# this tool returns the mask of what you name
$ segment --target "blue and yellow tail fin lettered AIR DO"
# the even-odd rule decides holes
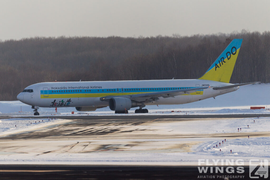
[[[229,83],[243,39],[234,39],[215,60],[204,75],[198,79]]]

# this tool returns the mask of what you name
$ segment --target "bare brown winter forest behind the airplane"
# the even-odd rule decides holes
[[[243,42],[230,83],[269,83],[270,31],[0,41],[0,100],[48,81],[197,79],[235,38]]]

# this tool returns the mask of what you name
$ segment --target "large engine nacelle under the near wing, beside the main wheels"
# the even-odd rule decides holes
[[[125,97],[114,97],[109,101],[109,107],[112,111],[130,110],[132,107],[141,106],[141,102],[133,101]]]

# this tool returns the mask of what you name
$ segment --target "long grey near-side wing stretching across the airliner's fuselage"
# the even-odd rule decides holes
[[[163,97],[163,98],[174,97],[174,96],[178,96],[182,94],[190,94],[192,92],[195,92],[196,90],[207,89],[207,88],[210,88],[210,87],[194,87],[194,88],[188,88],[188,89],[177,89],[177,90],[131,94],[131,95],[123,95],[123,96],[105,96],[105,97],[101,97],[100,100],[109,101],[111,98],[114,98],[114,97],[126,97],[132,100],[147,103],[147,102],[157,101],[159,97]]]

